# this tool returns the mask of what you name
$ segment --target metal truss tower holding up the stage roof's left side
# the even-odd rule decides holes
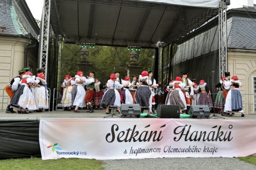
[[[47,79],[48,62],[48,42],[50,31],[50,8],[51,0],[44,0],[43,13],[41,18],[40,41],[39,41],[39,67],[45,70],[45,80]]]

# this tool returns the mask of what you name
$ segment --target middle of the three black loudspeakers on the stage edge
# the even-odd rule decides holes
[[[157,117],[159,118],[180,118],[179,105],[164,105],[160,104],[156,109]]]

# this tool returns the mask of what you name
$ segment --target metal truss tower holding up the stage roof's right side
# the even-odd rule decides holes
[[[227,71],[227,6],[220,0],[219,7],[219,69],[222,77]]]

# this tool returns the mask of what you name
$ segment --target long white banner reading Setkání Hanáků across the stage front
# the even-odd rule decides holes
[[[256,120],[42,118],[42,159],[239,157],[256,153]]]

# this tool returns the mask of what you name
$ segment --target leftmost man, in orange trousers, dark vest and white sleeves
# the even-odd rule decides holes
[[[17,88],[20,86],[20,80],[22,79],[23,74],[25,74],[26,71],[25,70],[20,70],[19,71],[19,76],[14,77],[13,79],[11,79],[10,83],[8,83],[5,86],[5,91],[8,94],[8,96],[10,97],[10,99],[13,97],[14,91],[17,90]],[[10,108],[10,104],[7,106],[6,108],[6,113],[16,113],[16,111],[13,111],[13,108]]]

